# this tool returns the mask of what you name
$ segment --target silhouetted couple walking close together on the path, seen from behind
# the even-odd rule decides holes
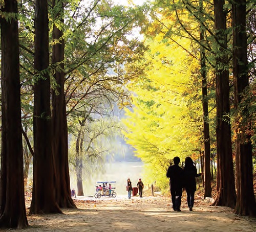
[[[193,211],[194,196],[196,192],[196,179],[202,175],[197,173],[196,165],[190,157],[185,158],[185,167],[179,166],[180,158],[174,157],[174,165],[169,166],[166,176],[170,178],[170,194],[172,195],[173,209],[180,212],[182,189],[186,190],[189,211]]]

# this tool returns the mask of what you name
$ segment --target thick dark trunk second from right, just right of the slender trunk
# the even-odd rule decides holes
[[[214,0],[217,46],[216,104],[217,104],[217,155],[219,184],[214,205],[234,207],[236,190],[232,163],[231,130],[229,119],[229,73],[227,57],[226,13],[224,0]]]

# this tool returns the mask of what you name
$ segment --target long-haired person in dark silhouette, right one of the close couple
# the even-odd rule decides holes
[[[197,190],[196,178],[201,176],[202,173],[197,173],[197,168],[195,163],[190,157],[185,158],[185,167],[183,169],[184,175],[184,188],[187,194],[187,205],[189,211],[193,211],[195,192]]]

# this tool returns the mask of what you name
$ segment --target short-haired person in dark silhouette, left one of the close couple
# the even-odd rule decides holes
[[[183,169],[179,167],[180,158],[174,157],[174,165],[169,166],[166,176],[170,178],[170,194],[172,195],[173,209],[181,211],[181,196],[183,187]]]

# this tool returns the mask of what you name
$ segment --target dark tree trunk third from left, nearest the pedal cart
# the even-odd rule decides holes
[[[63,23],[63,1],[54,0],[53,7],[56,10],[54,20]],[[53,26],[53,51],[52,64],[56,65],[54,78],[56,88],[52,90],[52,121],[53,121],[53,157],[55,164],[56,201],[60,207],[74,208],[75,203],[70,194],[70,175],[68,157],[68,125],[65,101],[65,73],[64,73],[64,49],[65,40],[63,32],[54,24]]]

